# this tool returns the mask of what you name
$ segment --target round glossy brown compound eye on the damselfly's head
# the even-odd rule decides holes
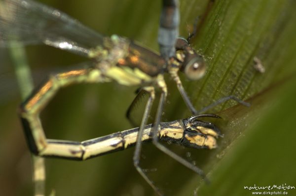
[[[190,80],[200,79],[205,74],[205,72],[206,65],[201,56],[191,59],[184,68],[184,73]]]

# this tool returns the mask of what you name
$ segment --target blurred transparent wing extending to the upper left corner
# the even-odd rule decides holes
[[[103,36],[67,14],[33,0],[0,0],[0,47],[44,43],[87,56]]]

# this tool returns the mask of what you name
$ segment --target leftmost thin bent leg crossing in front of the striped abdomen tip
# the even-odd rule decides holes
[[[149,93],[149,98],[145,107],[145,112],[143,115],[143,119],[141,122],[141,126],[137,135],[137,142],[136,142],[136,146],[135,146],[135,154],[133,157],[133,161],[134,161],[134,165],[136,167],[136,169],[138,170],[138,172],[142,175],[142,177],[147,181],[147,183],[153,188],[153,190],[158,194],[161,195],[161,193],[159,192],[158,188],[153,184],[153,182],[148,178],[148,176],[146,175],[146,173],[144,172],[144,170],[141,168],[140,166],[140,155],[141,155],[141,148],[142,148],[142,136],[143,136],[143,131],[144,131],[144,127],[147,124],[148,121],[148,116],[151,110],[151,106],[152,103],[154,101],[155,98],[155,92],[154,92],[154,87],[145,87],[143,88],[145,91],[147,91]]]

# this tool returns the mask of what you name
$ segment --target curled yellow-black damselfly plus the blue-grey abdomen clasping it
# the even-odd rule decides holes
[[[159,135],[167,135],[167,137],[163,138],[172,141],[174,141],[174,139],[181,139],[182,142],[186,141],[185,143],[187,143],[188,146],[191,146],[191,142],[197,142],[197,147],[209,148],[209,146],[212,146],[212,148],[214,148],[216,146],[215,136],[219,134],[216,128],[207,127],[208,124],[201,124],[198,128],[193,126],[191,129],[191,125],[186,127],[184,125],[185,123],[180,123],[181,121],[178,121],[181,126],[179,130],[183,132],[177,134],[176,130],[174,130],[176,128],[173,127],[170,128],[173,131],[168,131],[167,134],[161,133],[161,131],[167,131],[163,126],[164,124],[160,123],[163,106],[167,97],[167,87],[163,79],[163,74],[168,72],[177,83],[178,90],[184,98],[189,110],[194,115],[225,100],[236,98],[232,96],[222,98],[215,104],[201,111],[197,111],[193,107],[182,86],[178,71],[184,71],[189,79],[199,79],[205,72],[205,65],[203,58],[194,52],[189,46],[188,41],[178,38],[179,9],[176,0],[163,0],[158,33],[161,55],[144,48],[138,43],[117,35],[103,37],[81,25],[61,11],[35,1],[1,0],[0,6],[1,46],[7,46],[9,44],[11,46],[13,45],[13,41],[19,41],[25,44],[44,43],[91,59],[90,62],[81,65],[81,67],[75,67],[73,70],[62,73],[51,74],[49,79],[40,85],[40,87],[21,105],[20,116],[30,150],[33,153],[40,156],[85,160],[102,154],[87,150],[87,147],[97,149],[97,146],[104,144],[101,143],[101,141],[107,142],[106,148],[103,149],[105,152],[103,153],[118,150],[119,147],[124,149],[128,146],[127,143],[129,142],[131,144],[136,143],[134,164],[150,186],[161,194],[139,165],[141,144],[143,140],[146,140],[144,139],[145,136],[148,135],[148,139],[152,140],[155,146],[161,151],[205,177],[201,169],[179,157],[158,141]],[[114,143],[114,140],[113,143],[110,143],[110,141],[103,139],[93,139],[81,143],[46,139],[39,119],[39,113],[60,88],[75,83],[105,83],[111,81],[116,81],[125,86],[140,86],[141,91],[139,95],[141,95],[141,92],[146,92],[149,95],[141,126],[139,130],[133,132],[133,135],[136,132],[137,139],[135,139],[136,137],[134,135],[131,141],[122,136],[125,133],[120,133],[120,136],[117,135],[119,138],[116,138],[116,134],[110,136],[113,137],[117,143]],[[155,98],[155,88],[160,90],[161,95],[155,116],[155,123],[153,127],[150,126],[151,128],[148,129],[146,124],[152,102]],[[136,100],[137,99],[138,97],[136,97]],[[240,102],[245,104],[242,101]],[[132,108],[133,105],[130,106],[127,116],[129,116],[130,109]],[[201,122],[196,121],[196,117],[191,118],[192,123]],[[217,116],[208,115],[208,117]],[[171,125],[171,123],[168,124]],[[206,131],[202,131],[203,129],[206,129]],[[149,133],[147,133],[147,130],[149,130]],[[188,138],[184,138],[186,135],[185,131],[189,131],[189,134],[187,134],[189,135]],[[129,131],[126,132],[128,136],[131,134],[132,133]],[[172,134],[172,136],[169,136],[170,134]],[[211,138],[211,140],[209,140],[209,138]],[[182,142],[177,141],[177,143],[180,144],[182,144]],[[90,153],[89,157],[87,153]]]

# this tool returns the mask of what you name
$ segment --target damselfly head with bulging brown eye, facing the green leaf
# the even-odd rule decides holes
[[[184,38],[178,38],[176,42],[177,59],[181,62],[180,69],[190,80],[200,79],[206,71],[206,65],[202,56],[189,46]]]

